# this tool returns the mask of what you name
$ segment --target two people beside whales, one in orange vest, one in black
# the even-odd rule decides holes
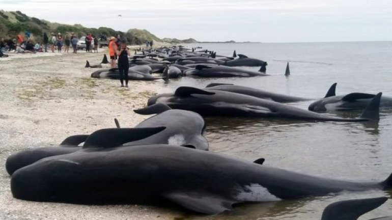
[[[129,70],[129,61],[128,56],[131,55],[129,48],[127,47],[127,42],[124,38],[121,38],[118,35],[117,38],[110,37],[109,38],[109,56],[110,56],[110,67],[116,67],[116,60],[118,59],[118,68],[120,73],[120,82],[121,87],[124,87],[124,79],[125,79],[125,87],[128,87],[128,70]]]

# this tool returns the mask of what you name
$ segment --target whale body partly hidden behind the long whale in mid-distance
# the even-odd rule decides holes
[[[226,84],[226,83],[210,83],[206,86],[206,90],[230,91],[234,93],[257,97],[260,99],[272,100],[278,103],[291,103],[291,102],[312,100],[312,99],[306,99],[301,97],[287,96],[287,95],[278,94],[262,89],[251,88],[247,86]]]

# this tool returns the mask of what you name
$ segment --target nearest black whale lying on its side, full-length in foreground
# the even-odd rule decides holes
[[[233,204],[385,190],[380,182],[310,176],[174,145],[92,148],[51,156],[17,170],[17,199],[78,204],[174,204],[217,214]]]

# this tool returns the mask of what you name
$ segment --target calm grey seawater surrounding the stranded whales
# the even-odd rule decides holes
[[[179,86],[203,88],[212,82],[234,83],[304,98],[323,98],[337,82],[337,95],[383,92],[392,97],[392,42],[222,43],[201,46],[218,55],[233,51],[268,62],[266,77],[171,80],[162,92]],[[201,49],[197,49],[201,50]],[[287,62],[291,76],[285,77]],[[258,70],[258,68],[249,68]],[[290,105],[307,109],[312,101]],[[332,112],[357,117],[360,111]],[[273,166],[325,178],[382,181],[392,173],[392,110],[381,110],[375,123],[309,122],[266,118],[206,118],[210,151],[242,160],[265,158]],[[229,214],[186,219],[320,219],[330,203],[354,198],[390,197],[392,191],[368,191],[304,199],[237,205]],[[392,215],[388,200],[360,219]]]

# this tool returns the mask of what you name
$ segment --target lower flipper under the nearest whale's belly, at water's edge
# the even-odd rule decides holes
[[[230,211],[235,203],[203,193],[170,193],[164,197],[187,209],[205,214],[219,214],[224,211]]]

